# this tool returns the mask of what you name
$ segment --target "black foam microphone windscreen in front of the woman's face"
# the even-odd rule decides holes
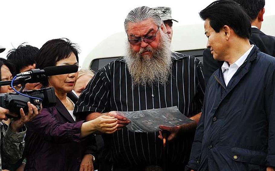
[[[61,66],[45,67],[44,71],[46,76],[61,75],[61,74],[76,73],[78,71],[78,67],[76,65],[61,65]]]

